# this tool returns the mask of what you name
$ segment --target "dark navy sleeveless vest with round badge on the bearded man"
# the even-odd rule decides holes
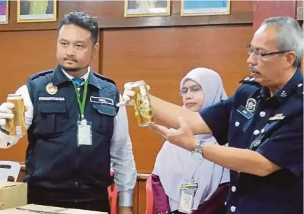
[[[79,105],[73,83],[60,67],[31,76],[27,87],[34,107],[26,151],[29,193],[44,191],[57,201],[100,197],[113,182],[110,147],[120,99],[115,83],[88,74],[84,117],[92,122],[90,146],[77,146]]]

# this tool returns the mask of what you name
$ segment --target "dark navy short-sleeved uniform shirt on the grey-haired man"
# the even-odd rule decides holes
[[[227,213],[303,213],[303,74],[274,96],[245,78],[231,98],[200,115],[220,145],[251,149],[282,169],[265,177],[231,170]]]

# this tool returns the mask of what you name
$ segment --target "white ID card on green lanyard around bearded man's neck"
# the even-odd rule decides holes
[[[75,89],[77,103],[79,105],[81,120],[77,121],[77,145],[92,145],[92,122],[86,121],[84,118],[84,108],[86,106],[86,95],[88,94],[88,80],[84,82],[84,96],[80,101],[80,94],[75,83],[72,81]]]

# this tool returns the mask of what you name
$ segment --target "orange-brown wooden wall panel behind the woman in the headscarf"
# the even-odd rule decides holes
[[[245,47],[251,33],[251,26],[106,30],[102,73],[113,78],[121,92],[124,83],[143,79],[151,85],[151,94],[180,105],[182,76],[195,67],[210,67],[231,95],[249,74]],[[133,112],[129,107],[137,171],[150,173],[162,142],[148,128],[137,126]]]

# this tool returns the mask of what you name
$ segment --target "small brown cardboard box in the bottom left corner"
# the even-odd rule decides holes
[[[27,204],[28,185],[19,182],[0,182],[0,210]]]

